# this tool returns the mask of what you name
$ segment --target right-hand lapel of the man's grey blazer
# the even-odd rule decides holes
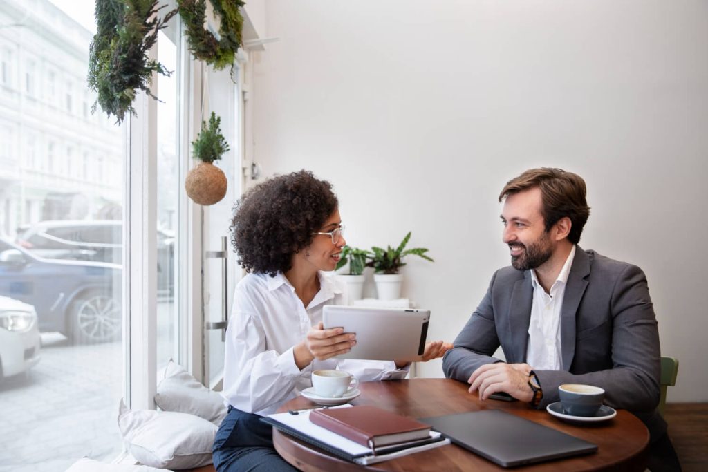
[[[586,278],[588,275],[590,275],[590,258],[580,246],[576,246],[576,255],[573,258],[561,309],[561,358],[563,361],[561,369],[566,372],[570,372],[573,356],[575,356],[576,313],[585,289],[588,287]]]

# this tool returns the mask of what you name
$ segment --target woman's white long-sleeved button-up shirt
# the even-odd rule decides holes
[[[322,320],[325,305],[346,304],[346,285],[319,273],[320,289],[305,308],[285,275],[251,273],[236,286],[226,334],[224,391],[239,410],[258,415],[275,413],[282,403],[312,386],[317,369],[341,369],[359,381],[402,379],[408,369],[393,361],[314,359],[302,371],[293,348]]]

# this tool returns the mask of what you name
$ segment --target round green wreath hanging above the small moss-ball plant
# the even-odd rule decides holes
[[[194,57],[221,70],[234,65],[236,51],[241,47],[244,17],[239,7],[246,3],[241,0],[210,0],[214,13],[221,18],[220,39],[217,40],[204,27],[206,22],[206,0],[178,0],[178,10],[187,33],[187,45]]]

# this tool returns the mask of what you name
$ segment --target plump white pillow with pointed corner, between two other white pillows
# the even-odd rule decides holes
[[[212,464],[217,427],[186,413],[131,411],[120,401],[118,429],[127,450],[140,463],[157,468],[195,468]]]

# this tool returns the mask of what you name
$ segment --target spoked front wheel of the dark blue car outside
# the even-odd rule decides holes
[[[81,294],[69,309],[70,333],[76,344],[105,343],[120,338],[121,310],[110,294]]]

